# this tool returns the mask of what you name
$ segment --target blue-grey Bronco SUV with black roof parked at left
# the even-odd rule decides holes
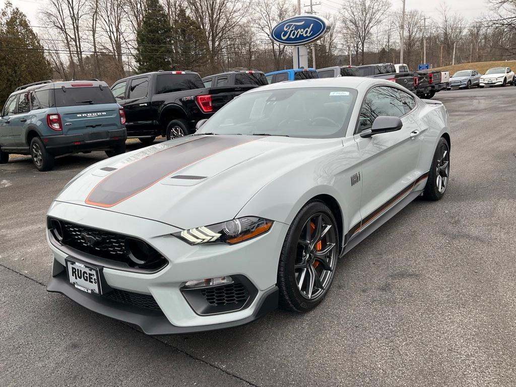
[[[0,117],[0,164],[10,153],[30,154],[40,171],[54,156],[125,152],[125,114],[105,82],[44,80],[17,88]]]

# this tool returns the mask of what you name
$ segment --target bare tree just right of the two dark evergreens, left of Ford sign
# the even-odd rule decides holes
[[[209,50],[213,69],[219,67],[219,55],[225,42],[236,38],[235,27],[244,18],[248,3],[239,0],[186,0],[193,19],[199,23]]]

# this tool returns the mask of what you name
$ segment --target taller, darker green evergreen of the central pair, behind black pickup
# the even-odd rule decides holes
[[[158,0],[147,0],[146,11],[136,31],[138,71],[170,70],[172,28]]]

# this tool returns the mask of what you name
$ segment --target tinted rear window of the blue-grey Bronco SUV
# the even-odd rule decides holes
[[[65,91],[66,90],[66,91]],[[67,87],[54,89],[55,106],[114,104],[115,97],[107,86]]]

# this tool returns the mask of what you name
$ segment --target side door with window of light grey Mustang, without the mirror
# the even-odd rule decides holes
[[[412,99],[410,106],[407,96]],[[389,86],[374,87],[364,98],[354,134],[361,153],[362,228],[407,195],[420,174],[417,160],[421,140],[417,137],[424,130],[416,117],[416,105],[411,94]],[[395,132],[360,137],[379,116],[399,117],[403,126]]]

